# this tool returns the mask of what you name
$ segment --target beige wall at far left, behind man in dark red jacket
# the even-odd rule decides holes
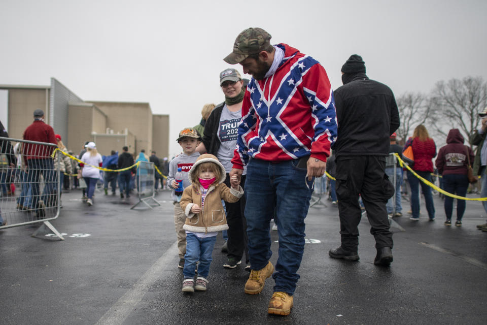
[[[33,113],[36,109],[44,111],[44,120],[49,124],[49,86],[0,86],[0,89],[9,92],[9,137],[22,139],[25,129],[34,120]]]

